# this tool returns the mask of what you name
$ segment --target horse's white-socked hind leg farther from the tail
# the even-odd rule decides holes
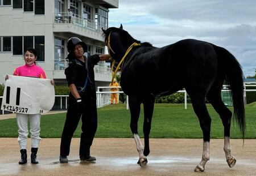
[[[194,171],[204,171],[205,164],[208,160],[210,160],[210,123],[212,119],[207,111],[207,107],[205,105],[205,97],[196,94],[189,95],[192,100],[193,109],[199,118],[200,127],[203,131],[203,154],[201,162],[196,166]]]

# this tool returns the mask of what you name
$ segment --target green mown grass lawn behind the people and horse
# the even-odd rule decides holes
[[[230,108],[233,111],[233,108]],[[208,106],[212,117],[211,138],[223,138],[221,119],[212,106]],[[246,139],[256,139],[256,104],[247,105]],[[65,122],[65,113],[42,115],[42,138],[60,138]],[[143,106],[139,118],[139,135],[143,137]],[[80,137],[81,123],[74,137]],[[0,120],[0,137],[17,137],[16,119]],[[98,109],[98,128],[96,138],[132,138],[130,131],[130,111],[126,104],[109,105]],[[241,138],[235,121],[232,121],[231,138]],[[192,105],[184,109],[183,104],[155,104],[150,138],[203,138],[199,121]]]

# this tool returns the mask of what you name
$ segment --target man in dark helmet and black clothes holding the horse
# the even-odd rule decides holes
[[[96,88],[94,81],[94,65],[99,61],[109,59],[109,54],[87,55],[87,45],[80,38],[71,37],[68,40],[69,66],[65,69],[68,81],[69,106],[63,128],[60,144],[60,162],[68,162],[67,156],[73,133],[82,119],[82,133],[80,138],[80,160],[95,161],[90,156],[90,146],[97,130]],[[85,56],[84,56],[85,55]]]

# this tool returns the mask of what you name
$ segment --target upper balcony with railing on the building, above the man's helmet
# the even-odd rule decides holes
[[[76,14],[69,16],[68,12],[53,15],[53,32],[71,32],[98,41],[104,41],[101,28],[106,29],[108,26],[97,21],[82,18],[82,16]]]

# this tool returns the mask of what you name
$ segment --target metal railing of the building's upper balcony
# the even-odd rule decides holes
[[[70,16],[68,15],[68,12],[55,13],[53,17],[54,23],[69,23],[92,31],[101,32],[101,28],[108,28],[108,26],[105,24],[83,18],[82,16],[76,14]]]

